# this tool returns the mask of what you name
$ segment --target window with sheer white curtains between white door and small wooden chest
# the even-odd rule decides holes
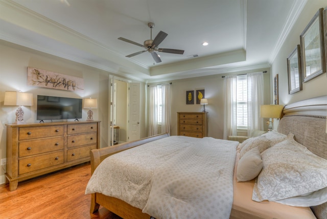
[[[161,104],[160,104],[161,99]],[[160,115],[161,112],[161,115]],[[171,85],[150,86],[149,136],[171,134]],[[161,121],[160,121],[161,120]]]

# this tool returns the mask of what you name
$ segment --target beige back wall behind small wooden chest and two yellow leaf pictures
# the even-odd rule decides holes
[[[253,72],[263,72],[265,83],[265,104],[270,104],[270,69],[256,69],[252,71],[234,72],[223,75],[239,75]],[[177,112],[202,112],[200,104],[186,104],[186,91],[204,89],[204,96],[208,99],[205,111],[209,113],[208,136],[213,138],[223,138],[224,127],[224,91],[222,75],[203,76],[183,80],[168,81],[172,82],[172,109],[171,109],[171,135],[177,135]],[[266,128],[267,129],[267,128]]]

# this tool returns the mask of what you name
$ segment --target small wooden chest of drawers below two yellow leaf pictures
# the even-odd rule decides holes
[[[177,113],[179,136],[203,138],[208,136],[208,112]]]

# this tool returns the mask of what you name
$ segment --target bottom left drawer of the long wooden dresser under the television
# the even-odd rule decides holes
[[[19,174],[40,170],[46,167],[55,166],[64,162],[63,151],[52,152],[30,158],[19,160]]]

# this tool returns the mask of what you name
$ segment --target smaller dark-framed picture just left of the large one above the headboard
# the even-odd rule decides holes
[[[287,58],[288,92],[302,91],[300,45],[297,45]]]

